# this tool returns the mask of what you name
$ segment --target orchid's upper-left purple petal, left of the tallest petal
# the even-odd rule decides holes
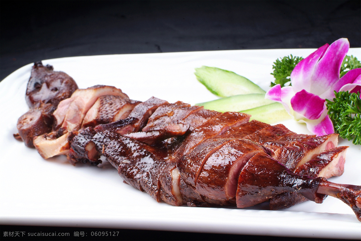
[[[315,52],[301,60],[300,63],[298,63],[292,70],[291,85],[296,92],[301,90],[311,90],[314,68],[328,47],[329,44],[319,47]]]

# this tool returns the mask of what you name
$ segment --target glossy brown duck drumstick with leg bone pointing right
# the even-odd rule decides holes
[[[277,194],[297,192],[316,203],[327,195],[345,202],[361,221],[361,186],[329,182],[323,177],[300,176],[264,152],[254,155],[238,178],[236,204],[239,208],[268,201]]]

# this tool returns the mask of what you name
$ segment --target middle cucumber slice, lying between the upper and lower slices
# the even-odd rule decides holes
[[[204,106],[205,109],[211,109],[219,112],[226,111],[243,111],[245,109],[264,106],[266,104],[274,103],[274,101],[265,99],[265,94],[247,94],[235,95],[225,97],[209,102],[196,104],[197,106]]]

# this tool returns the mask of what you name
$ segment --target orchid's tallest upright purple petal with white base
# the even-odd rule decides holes
[[[318,61],[312,76],[309,92],[321,95],[340,79],[340,69],[350,44],[346,38],[338,39],[327,48]]]

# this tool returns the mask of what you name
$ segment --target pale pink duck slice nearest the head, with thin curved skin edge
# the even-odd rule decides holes
[[[79,130],[88,110],[93,106],[96,100],[103,95],[118,95],[123,98],[128,98],[122,90],[113,86],[96,85],[87,89],[78,89],[71,95],[71,102],[70,100],[67,100],[65,105],[60,103],[62,108],[59,111],[56,110],[54,112],[56,120],[64,120],[62,124],[57,122],[57,127],[61,125],[66,128],[68,132]],[[65,116],[62,117],[61,115],[65,112],[64,106],[68,106],[68,110],[66,111]]]

